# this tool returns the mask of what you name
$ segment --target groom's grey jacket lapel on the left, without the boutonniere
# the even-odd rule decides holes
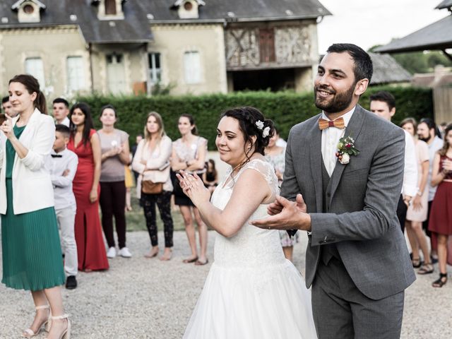
[[[321,114],[319,114],[319,117]],[[309,131],[310,148],[309,160],[311,165],[311,176],[314,182],[314,191],[316,194],[316,212],[321,213],[323,207],[323,189],[322,189],[322,132],[319,129],[319,119],[313,119],[314,124]]]

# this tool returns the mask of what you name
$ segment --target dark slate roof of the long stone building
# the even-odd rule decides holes
[[[41,11],[40,23],[19,23],[17,11],[11,10],[17,0],[1,0],[0,18],[8,18],[8,23],[0,20],[0,30],[78,25],[86,42],[140,43],[153,40],[150,23],[292,20],[331,15],[317,0],[206,0],[206,6],[199,8],[198,19],[182,20],[177,10],[171,9],[174,0],[129,0],[123,4],[124,20],[99,20],[92,0],[41,1],[47,8]],[[71,20],[71,15],[76,15],[76,20]]]

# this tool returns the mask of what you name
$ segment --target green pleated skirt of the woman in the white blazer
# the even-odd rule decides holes
[[[54,208],[14,215],[12,179],[6,179],[6,198],[6,215],[1,215],[1,282],[17,290],[32,291],[64,284],[63,260]]]

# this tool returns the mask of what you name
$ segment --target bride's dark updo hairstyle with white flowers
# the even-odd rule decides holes
[[[251,155],[256,152],[264,155],[264,150],[267,147],[270,138],[273,136],[273,133],[275,133],[273,121],[263,117],[263,114],[254,107],[236,107],[228,109],[221,114],[220,119],[223,117],[231,117],[239,121],[240,131],[242,131],[245,140],[244,153],[247,161],[249,161]],[[247,141],[253,145],[252,136],[256,136],[254,153],[250,153],[251,149],[246,147]]]

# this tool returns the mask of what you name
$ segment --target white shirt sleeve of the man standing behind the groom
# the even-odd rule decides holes
[[[414,197],[417,194],[417,158],[415,141],[412,135],[405,132],[405,169],[403,170],[402,194]]]

